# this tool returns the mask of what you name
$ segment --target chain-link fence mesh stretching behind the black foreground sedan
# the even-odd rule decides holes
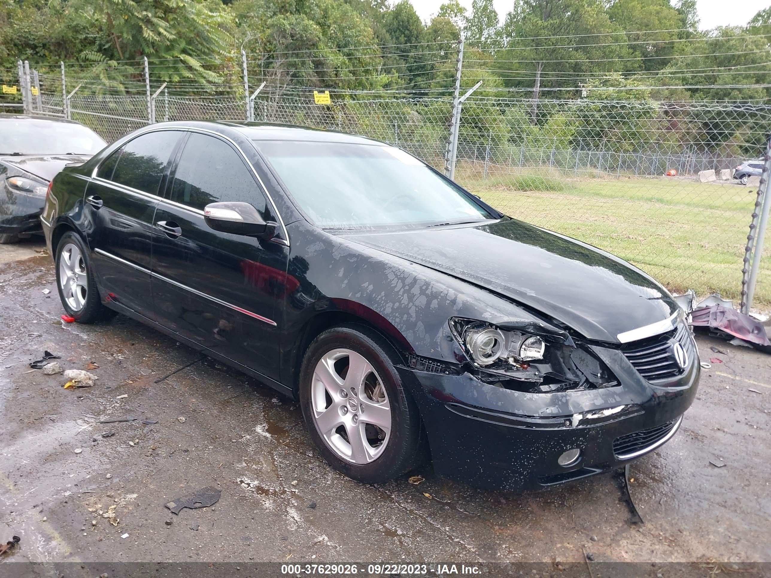
[[[153,118],[313,126],[379,139],[449,171],[457,98],[333,92],[330,103],[317,104],[312,89],[264,86],[256,94],[247,81],[246,94],[191,93],[150,86],[150,78],[120,93],[42,74],[41,99],[31,99],[28,112],[66,116],[108,140]],[[739,301],[759,197],[757,177],[743,185],[737,167],[763,155],[769,130],[764,103],[471,95],[460,109],[453,176],[511,217],[608,250],[672,291]],[[771,247],[755,292],[766,306],[769,258]]]

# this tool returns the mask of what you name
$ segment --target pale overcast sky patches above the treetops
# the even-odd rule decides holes
[[[410,0],[415,6],[416,12],[423,20],[429,20],[446,0]],[[460,3],[471,9],[471,0],[460,0]],[[500,21],[506,17],[513,5],[513,0],[494,0],[495,9]],[[672,2],[675,4],[675,2]],[[768,8],[771,0],[696,0],[699,7],[700,27],[702,30],[712,29],[715,26],[734,26],[746,24],[759,10]]]

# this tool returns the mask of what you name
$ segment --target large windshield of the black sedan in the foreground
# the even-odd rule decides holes
[[[392,146],[256,141],[289,193],[322,229],[495,219],[460,187]]]

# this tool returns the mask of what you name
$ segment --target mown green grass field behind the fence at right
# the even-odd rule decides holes
[[[477,175],[480,173],[476,173]],[[755,189],[668,177],[564,179],[547,173],[457,180],[511,217],[601,247],[670,291],[738,300]],[[754,304],[771,304],[771,233]]]

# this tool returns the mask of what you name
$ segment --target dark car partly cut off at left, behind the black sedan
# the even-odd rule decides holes
[[[40,233],[51,179],[107,143],[93,130],[48,116],[0,114],[0,244]]]

